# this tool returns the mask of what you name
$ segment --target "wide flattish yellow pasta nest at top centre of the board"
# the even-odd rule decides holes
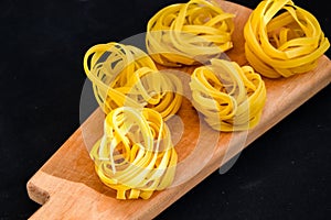
[[[233,47],[233,18],[214,1],[191,0],[168,6],[148,22],[147,50],[164,66],[207,62]]]

